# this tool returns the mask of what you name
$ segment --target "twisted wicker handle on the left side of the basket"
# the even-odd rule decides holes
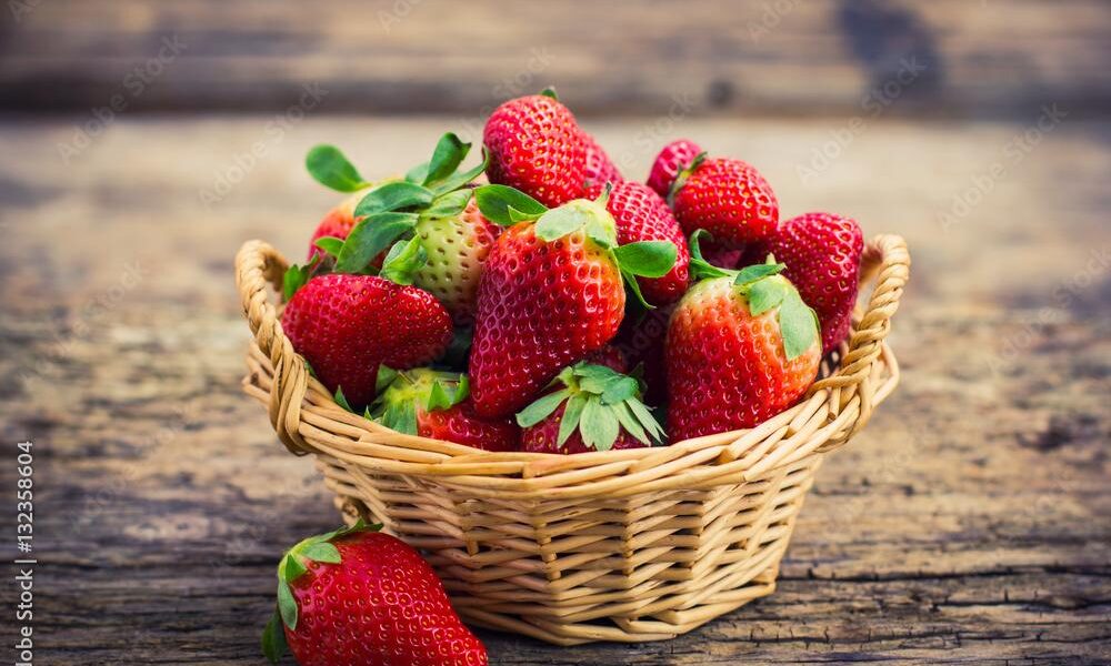
[[[281,291],[288,266],[286,258],[270,244],[248,241],[236,255],[236,286],[254,342],[274,369],[268,406],[270,423],[287,448],[303,455],[310,448],[298,426],[301,401],[309,387],[309,372],[282,332],[278,310],[268,293],[271,286]]]

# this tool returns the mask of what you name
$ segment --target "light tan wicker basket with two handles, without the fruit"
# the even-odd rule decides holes
[[[561,645],[671,638],[775,589],[824,454],[898,383],[883,340],[910,256],[881,235],[862,261],[867,306],[807,400],[758,427],[671,446],[488,453],[351,414],[282,333],[268,285],[286,261],[259,241],[236,259],[254,334],[243,387],[291,452],[316,455],[346,519],[382,523],[421,549],[468,622]]]

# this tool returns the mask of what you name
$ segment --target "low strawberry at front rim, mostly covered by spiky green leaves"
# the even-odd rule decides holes
[[[560,372],[553,391],[517,415],[530,453],[587,453],[651,446],[663,428],[640,402],[637,380],[580,362]]]

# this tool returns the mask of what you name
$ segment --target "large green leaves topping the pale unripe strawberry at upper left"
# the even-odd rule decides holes
[[[306,168],[318,182],[341,192],[370,188],[354,208],[358,222],[347,239],[326,238],[316,245],[323,251],[304,266],[292,265],[283,280],[286,300],[293,297],[314,275],[332,273],[378,274],[398,284],[412,284],[413,275],[428,262],[413,229],[427,219],[454,218],[471,200],[471,181],[486,171],[488,157],[468,170],[460,164],[471,144],[452,132],[440,137],[432,158],[418,164],[404,179],[369,183],[334,145],[317,145],[309,151]],[[371,262],[387,248],[387,262],[376,271]],[[422,251],[423,250],[423,251]]]

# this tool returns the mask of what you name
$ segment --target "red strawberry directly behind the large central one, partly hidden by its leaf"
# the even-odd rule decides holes
[[[600,186],[589,190],[588,195],[597,196]],[[679,300],[687,291],[690,251],[687,238],[675,221],[667,202],[660,195],[633,181],[618,183],[609,193],[605,210],[613,215],[618,226],[618,243],[639,241],[668,241],[678,250],[675,265],[662,278],[639,278],[644,300],[653,305],[664,305]]]

